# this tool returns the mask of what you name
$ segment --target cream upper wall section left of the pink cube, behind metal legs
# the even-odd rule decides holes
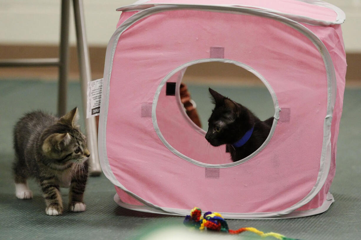
[[[133,0],[84,0],[87,39],[92,46],[106,46],[120,12]],[[60,0],[0,0],[0,44],[55,45],[60,36]],[[70,42],[75,45],[73,8]]]

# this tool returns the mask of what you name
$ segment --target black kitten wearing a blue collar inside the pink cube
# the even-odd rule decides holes
[[[215,107],[208,119],[205,139],[212,146],[226,144],[233,162],[251,155],[268,137],[273,117],[261,121],[243,105],[208,90]]]

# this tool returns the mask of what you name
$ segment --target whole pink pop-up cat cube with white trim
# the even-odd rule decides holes
[[[106,52],[99,124],[104,174],[129,209],[225,218],[324,212],[335,175],[346,61],[339,8],[318,0],[151,0],[123,11]],[[232,162],[184,113],[196,63],[255,74],[274,102],[268,139]]]

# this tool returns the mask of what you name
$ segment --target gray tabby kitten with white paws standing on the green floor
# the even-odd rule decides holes
[[[63,212],[60,187],[70,187],[70,211],[83,212],[86,208],[83,193],[90,153],[86,138],[77,126],[78,118],[78,108],[61,118],[36,111],[26,114],[14,127],[16,196],[32,198],[27,178],[35,177],[48,215]]]

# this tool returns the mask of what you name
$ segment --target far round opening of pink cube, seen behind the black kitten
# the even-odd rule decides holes
[[[215,107],[208,88],[247,107],[261,120],[274,115],[272,96],[255,74],[232,63],[198,63],[187,67],[184,72],[179,100],[184,108],[191,110],[185,109],[186,113],[191,112],[187,114],[190,120],[204,131],[208,131],[208,118]],[[193,118],[193,106],[199,120]]]

